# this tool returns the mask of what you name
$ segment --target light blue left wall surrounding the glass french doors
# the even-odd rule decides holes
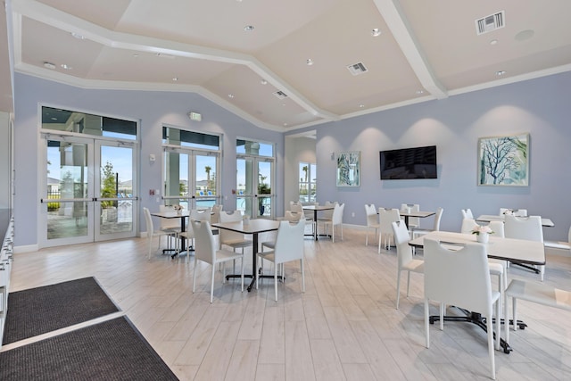
[[[275,143],[277,148],[276,189],[283,189],[284,137],[281,133],[257,128],[252,123],[237,117],[200,95],[155,91],[86,90],[52,81],[16,74],[14,81],[14,164],[16,171],[14,218],[16,246],[37,244],[38,176],[44,175],[37,168],[38,104],[59,106],[68,110],[89,112],[104,116],[140,120],[141,127],[141,178],[142,200],[140,211],[146,206],[158,210],[155,197],[149,189],[161,188],[161,127],[169,124],[183,129],[223,134],[222,195],[226,210],[236,209],[231,195],[236,187],[236,137],[251,138]],[[203,121],[189,120],[187,113],[201,112]],[[157,161],[150,163],[149,154]],[[276,215],[283,215],[283,194],[277,193]],[[145,231],[145,219],[139,215]],[[25,233],[24,233],[25,232]]]

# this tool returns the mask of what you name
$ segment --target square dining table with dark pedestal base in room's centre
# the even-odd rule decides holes
[[[242,233],[247,235],[252,235],[252,275],[244,274],[244,277],[252,277],[252,282],[248,286],[248,292],[252,291],[252,287],[256,284],[256,279],[258,277],[271,277],[273,275],[263,275],[258,274],[258,246],[259,246],[259,236],[261,233],[266,233],[270,231],[277,231],[279,228],[279,221],[274,219],[246,219],[242,221],[235,222],[216,222],[211,224],[213,228],[226,229],[234,231],[236,233]],[[241,274],[229,274],[226,279],[232,277],[242,277]],[[283,277],[278,277],[283,280]]]

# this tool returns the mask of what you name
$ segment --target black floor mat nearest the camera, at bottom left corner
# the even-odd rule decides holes
[[[126,317],[0,352],[1,380],[177,380]]]

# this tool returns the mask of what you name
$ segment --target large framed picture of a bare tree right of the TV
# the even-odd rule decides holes
[[[478,186],[529,186],[528,133],[478,139]]]

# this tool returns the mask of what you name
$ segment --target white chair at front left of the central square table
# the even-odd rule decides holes
[[[196,290],[196,269],[198,261],[203,261],[211,265],[211,302],[214,296],[214,273],[215,265],[222,264],[222,283],[226,279],[226,262],[241,260],[242,291],[244,291],[244,253],[230,252],[225,249],[216,249],[214,235],[212,235],[211,224],[208,221],[191,221],[194,229],[194,269],[193,269],[193,294]]]

